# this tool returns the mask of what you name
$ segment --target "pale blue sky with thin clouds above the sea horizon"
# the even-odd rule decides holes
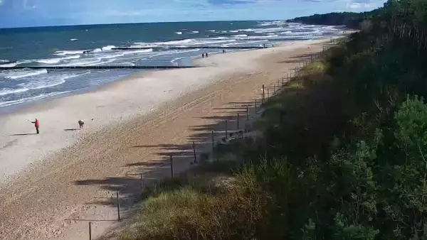
[[[0,28],[160,21],[288,19],[369,11],[386,0],[0,0]]]

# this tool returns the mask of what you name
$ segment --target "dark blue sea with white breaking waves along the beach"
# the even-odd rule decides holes
[[[299,40],[330,38],[338,36],[342,30],[339,26],[313,26],[286,21],[3,28],[0,29],[0,113],[41,100],[96,89],[142,71],[43,68],[5,70],[4,67],[185,66],[191,65],[192,60],[201,58],[202,53],[222,53],[221,49],[204,49],[206,46],[270,46]],[[127,49],[115,50],[120,47]],[[228,53],[232,51],[237,50]]]

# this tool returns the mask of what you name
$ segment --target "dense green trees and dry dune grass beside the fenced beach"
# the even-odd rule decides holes
[[[231,183],[165,183],[123,238],[427,239],[426,21],[427,1],[388,1],[211,165]]]

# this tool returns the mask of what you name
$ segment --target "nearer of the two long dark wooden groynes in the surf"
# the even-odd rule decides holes
[[[14,66],[14,67],[1,67],[0,70],[18,70],[24,68],[30,69],[176,69],[176,68],[191,68],[194,66]]]

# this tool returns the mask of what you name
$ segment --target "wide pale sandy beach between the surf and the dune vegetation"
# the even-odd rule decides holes
[[[87,239],[88,221],[95,237],[114,232],[116,192],[126,219],[141,176],[148,184],[170,175],[169,155],[176,173],[188,169],[192,142],[201,153],[211,130],[324,42],[210,55],[201,67],[144,72],[1,115],[0,239]]]

